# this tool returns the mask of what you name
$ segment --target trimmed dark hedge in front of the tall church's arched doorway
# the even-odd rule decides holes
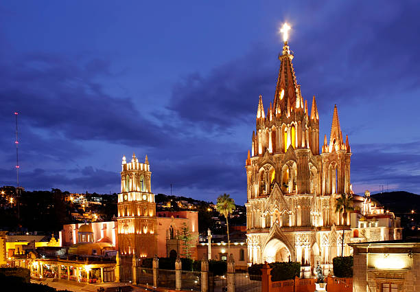
[[[250,280],[259,280],[261,281],[261,269],[262,264],[254,264],[248,267],[248,273]],[[299,262],[272,262],[270,263],[271,270],[271,280],[272,281],[282,281],[294,279],[301,273],[301,264]]]

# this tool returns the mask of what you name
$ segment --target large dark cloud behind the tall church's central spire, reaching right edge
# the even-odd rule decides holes
[[[331,101],[360,106],[419,89],[417,3],[395,2],[380,9],[377,3],[364,3],[363,9],[360,3],[331,6],[303,20],[299,36],[290,43],[304,98],[310,101],[316,95],[318,109],[330,114]],[[209,74],[194,72],[176,82],[168,109],[203,128],[226,131],[255,115],[260,93],[267,110],[278,67],[275,52],[253,45],[246,56]]]

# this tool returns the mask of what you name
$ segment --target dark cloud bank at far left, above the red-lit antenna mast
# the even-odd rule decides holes
[[[97,58],[86,65],[51,54],[30,54],[0,64],[0,120],[19,111],[32,128],[67,139],[156,145],[165,142],[165,128],[150,122],[130,98],[105,93],[97,76],[109,64]],[[141,133],[141,135],[135,135]]]

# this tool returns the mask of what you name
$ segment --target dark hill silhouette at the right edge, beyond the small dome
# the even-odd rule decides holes
[[[394,213],[409,213],[411,210],[420,212],[420,196],[412,192],[382,192],[372,194],[371,197]]]

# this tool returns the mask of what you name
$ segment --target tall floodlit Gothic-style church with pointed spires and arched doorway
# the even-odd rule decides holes
[[[256,131],[246,159],[248,262],[298,261],[329,268],[340,256],[342,230],[349,254],[349,214],[335,212],[336,198],[351,195],[348,137],[334,106],[329,141],[319,151],[315,97],[308,111],[285,42],[275,98],[264,111],[259,96]]]

